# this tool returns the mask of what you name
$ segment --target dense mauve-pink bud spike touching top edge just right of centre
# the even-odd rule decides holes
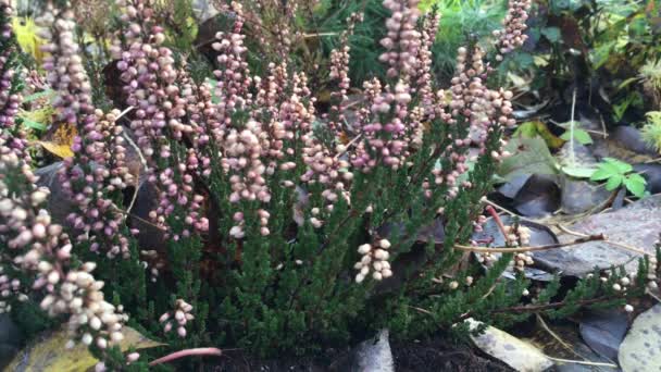
[[[386,52],[379,60],[389,67],[388,77],[398,75],[414,75],[420,65],[417,60],[421,47],[417,18],[420,10],[419,0],[385,0],[384,7],[391,12],[386,21],[387,34],[381,40]]]

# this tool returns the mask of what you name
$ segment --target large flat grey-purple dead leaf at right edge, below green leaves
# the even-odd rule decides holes
[[[661,232],[661,196],[639,200],[620,210],[595,214],[570,230],[584,234],[604,234],[609,240],[625,244],[654,255],[654,241]],[[561,241],[574,240],[562,236]],[[624,264],[629,272],[638,269],[639,255],[604,241],[535,252],[535,262],[546,269],[561,270],[566,275],[582,276],[595,266],[608,269]]]

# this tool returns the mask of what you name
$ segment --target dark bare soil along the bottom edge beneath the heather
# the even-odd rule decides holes
[[[507,364],[482,351],[457,346],[441,338],[420,343],[391,343],[396,372],[509,372]],[[227,351],[213,372],[359,372],[351,351],[330,351],[323,357],[259,360],[239,351]]]

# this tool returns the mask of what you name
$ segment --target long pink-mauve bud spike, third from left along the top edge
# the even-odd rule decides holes
[[[177,151],[176,142],[184,135],[195,134],[196,127],[186,122],[187,97],[177,85],[184,76],[175,69],[172,50],[163,47],[164,29],[153,24],[149,1],[117,1],[127,23],[124,38],[127,48],[116,42],[113,52],[120,59],[124,90],[128,106],[135,108],[130,128],[147,160],[147,177],[159,190],[159,202],[149,218],[167,230],[166,219],[176,208],[184,211],[185,225],[173,238],[187,236],[192,230],[205,231],[208,221],[200,213],[202,197],[194,193],[189,169],[199,163],[194,151]],[[180,235],[179,235],[180,234]]]

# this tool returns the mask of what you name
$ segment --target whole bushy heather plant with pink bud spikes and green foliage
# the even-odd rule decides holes
[[[48,190],[34,186],[12,119],[21,97],[3,4],[2,296],[68,315],[72,342],[104,359],[98,370],[142,365],[139,354],[112,347],[127,323],[184,349],[179,356],[226,345],[273,356],[319,351],[382,327],[400,338],[438,328],[461,335],[469,317],[503,324],[527,317],[503,309],[527,296],[522,268],[533,260],[513,247],[525,246],[528,233],[502,226],[509,243],[496,260],[473,260],[471,251],[489,250],[470,239],[486,219],[482,199],[495,166],[508,156],[502,135],[515,125],[512,94],[491,86],[490,75],[525,41],[531,1],[509,1],[492,48],[459,48],[446,85],[433,69],[442,22],[435,10],[385,0],[385,76],[363,82],[351,80],[349,41],[362,21],[351,14],[328,55],[327,108],[304,66],[287,59],[301,9],[278,4],[222,4],[232,24],[215,35],[214,71],[200,83],[176,58],[183,51],[174,48],[188,44],[169,40],[152,1],[116,1],[110,52],[122,89],[112,97],[120,107],[103,111],[74,41],[72,8],[48,3],[42,69],[57,92],[55,122],[78,133],[58,175],[72,206],[64,221],[41,209]],[[255,73],[245,29],[259,22],[277,28],[264,35],[273,50]],[[362,89],[358,102],[349,101],[352,87]],[[153,200],[146,218],[132,218],[142,189]],[[147,227],[157,238],[138,246]],[[516,280],[500,281],[512,261]],[[641,261],[636,288],[645,290],[651,265]],[[586,281],[548,311],[571,313],[594,297],[623,305],[637,293],[611,296],[610,282]],[[557,292],[553,282],[536,300]]]

